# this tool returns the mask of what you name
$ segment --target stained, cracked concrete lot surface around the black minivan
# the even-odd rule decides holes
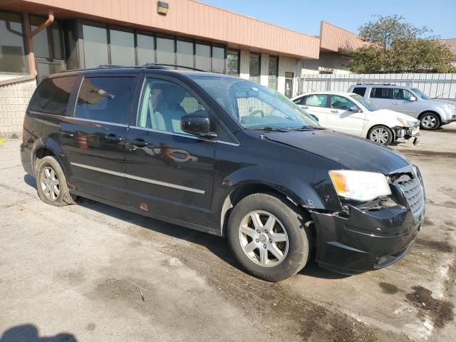
[[[420,167],[427,219],[398,264],[310,263],[269,284],[224,239],[83,200],[38,199],[0,147],[0,341],[456,341],[456,123],[393,148]]]

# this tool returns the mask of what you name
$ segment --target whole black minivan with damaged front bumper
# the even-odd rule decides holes
[[[45,78],[21,160],[43,202],[81,196],[227,237],[267,281],[311,255],[343,274],[393,264],[425,213],[418,168],[388,147],[321,128],[257,83],[158,65]]]

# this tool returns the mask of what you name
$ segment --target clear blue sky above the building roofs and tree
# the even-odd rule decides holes
[[[200,0],[294,31],[318,36],[320,21],[358,33],[373,15],[400,14],[440,38],[456,38],[456,0]]]

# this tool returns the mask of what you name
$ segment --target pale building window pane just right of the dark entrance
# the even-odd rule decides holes
[[[83,40],[86,68],[109,64],[108,30],[106,28],[83,25]]]

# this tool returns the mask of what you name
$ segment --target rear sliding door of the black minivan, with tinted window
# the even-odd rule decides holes
[[[73,118],[61,125],[74,190],[127,204],[125,138],[135,76],[83,78]]]

